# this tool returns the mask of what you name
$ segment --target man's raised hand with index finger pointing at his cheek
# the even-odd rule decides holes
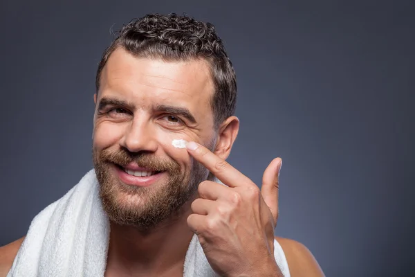
[[[197,148],[195,148],[196,146]],[[278,176],[282,159],[271,161],[259,190],[248,177],[197,143],[187,151],[223,184],[203,181],[187,217],[210,266],[221,276],[282,276],[274,258]]]

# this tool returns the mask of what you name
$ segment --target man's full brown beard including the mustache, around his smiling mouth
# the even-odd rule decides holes
[[[147,170],[167,174],[167,181],[140,187],[123,184],[114,167],[129,163]],[[196,194],[209,171],[192,159],[191,170],[182,172],[173,159],[160,159],[148,152],[128,150],[93,150],[93,164],[100,184],[100,199],[109,220],[121,226],[134,226],[141,231],[154,229],[181,213],[181,208]],[[123,169],[122,169],[123,170]]]

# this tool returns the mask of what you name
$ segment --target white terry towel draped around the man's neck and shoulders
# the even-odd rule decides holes
[[[289,277],[284,252],[277,240],[274,244],[275,260]],[[104,276],[108,245],[109,220],[91,170],[33,219],[8,277]],[[187,249],[183,276],[217,276],[196,235]]]

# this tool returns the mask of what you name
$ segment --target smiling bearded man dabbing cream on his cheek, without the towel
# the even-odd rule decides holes
[[[302,244],[275,241],[282,160],[266,168],[261,190],[225,161],[239,130],[237,84],[211,24],[176,15],[132,21],[102,55],[96,87],[94,174],[111,229],[105,276],[183,276],[195,234],[220,276],[288,276],[277,259],[291,276],[323,276]],[[0,276],[15,259],[17,275],[32,229],[1,247]],[[53,258],[37,274],[47,276]]]

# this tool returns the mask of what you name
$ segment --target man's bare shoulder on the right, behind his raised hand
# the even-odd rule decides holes
[[[304,244],[288,238],[275,237],[284,250],[291,277],[320,277],[324,273],[311,251]]]

